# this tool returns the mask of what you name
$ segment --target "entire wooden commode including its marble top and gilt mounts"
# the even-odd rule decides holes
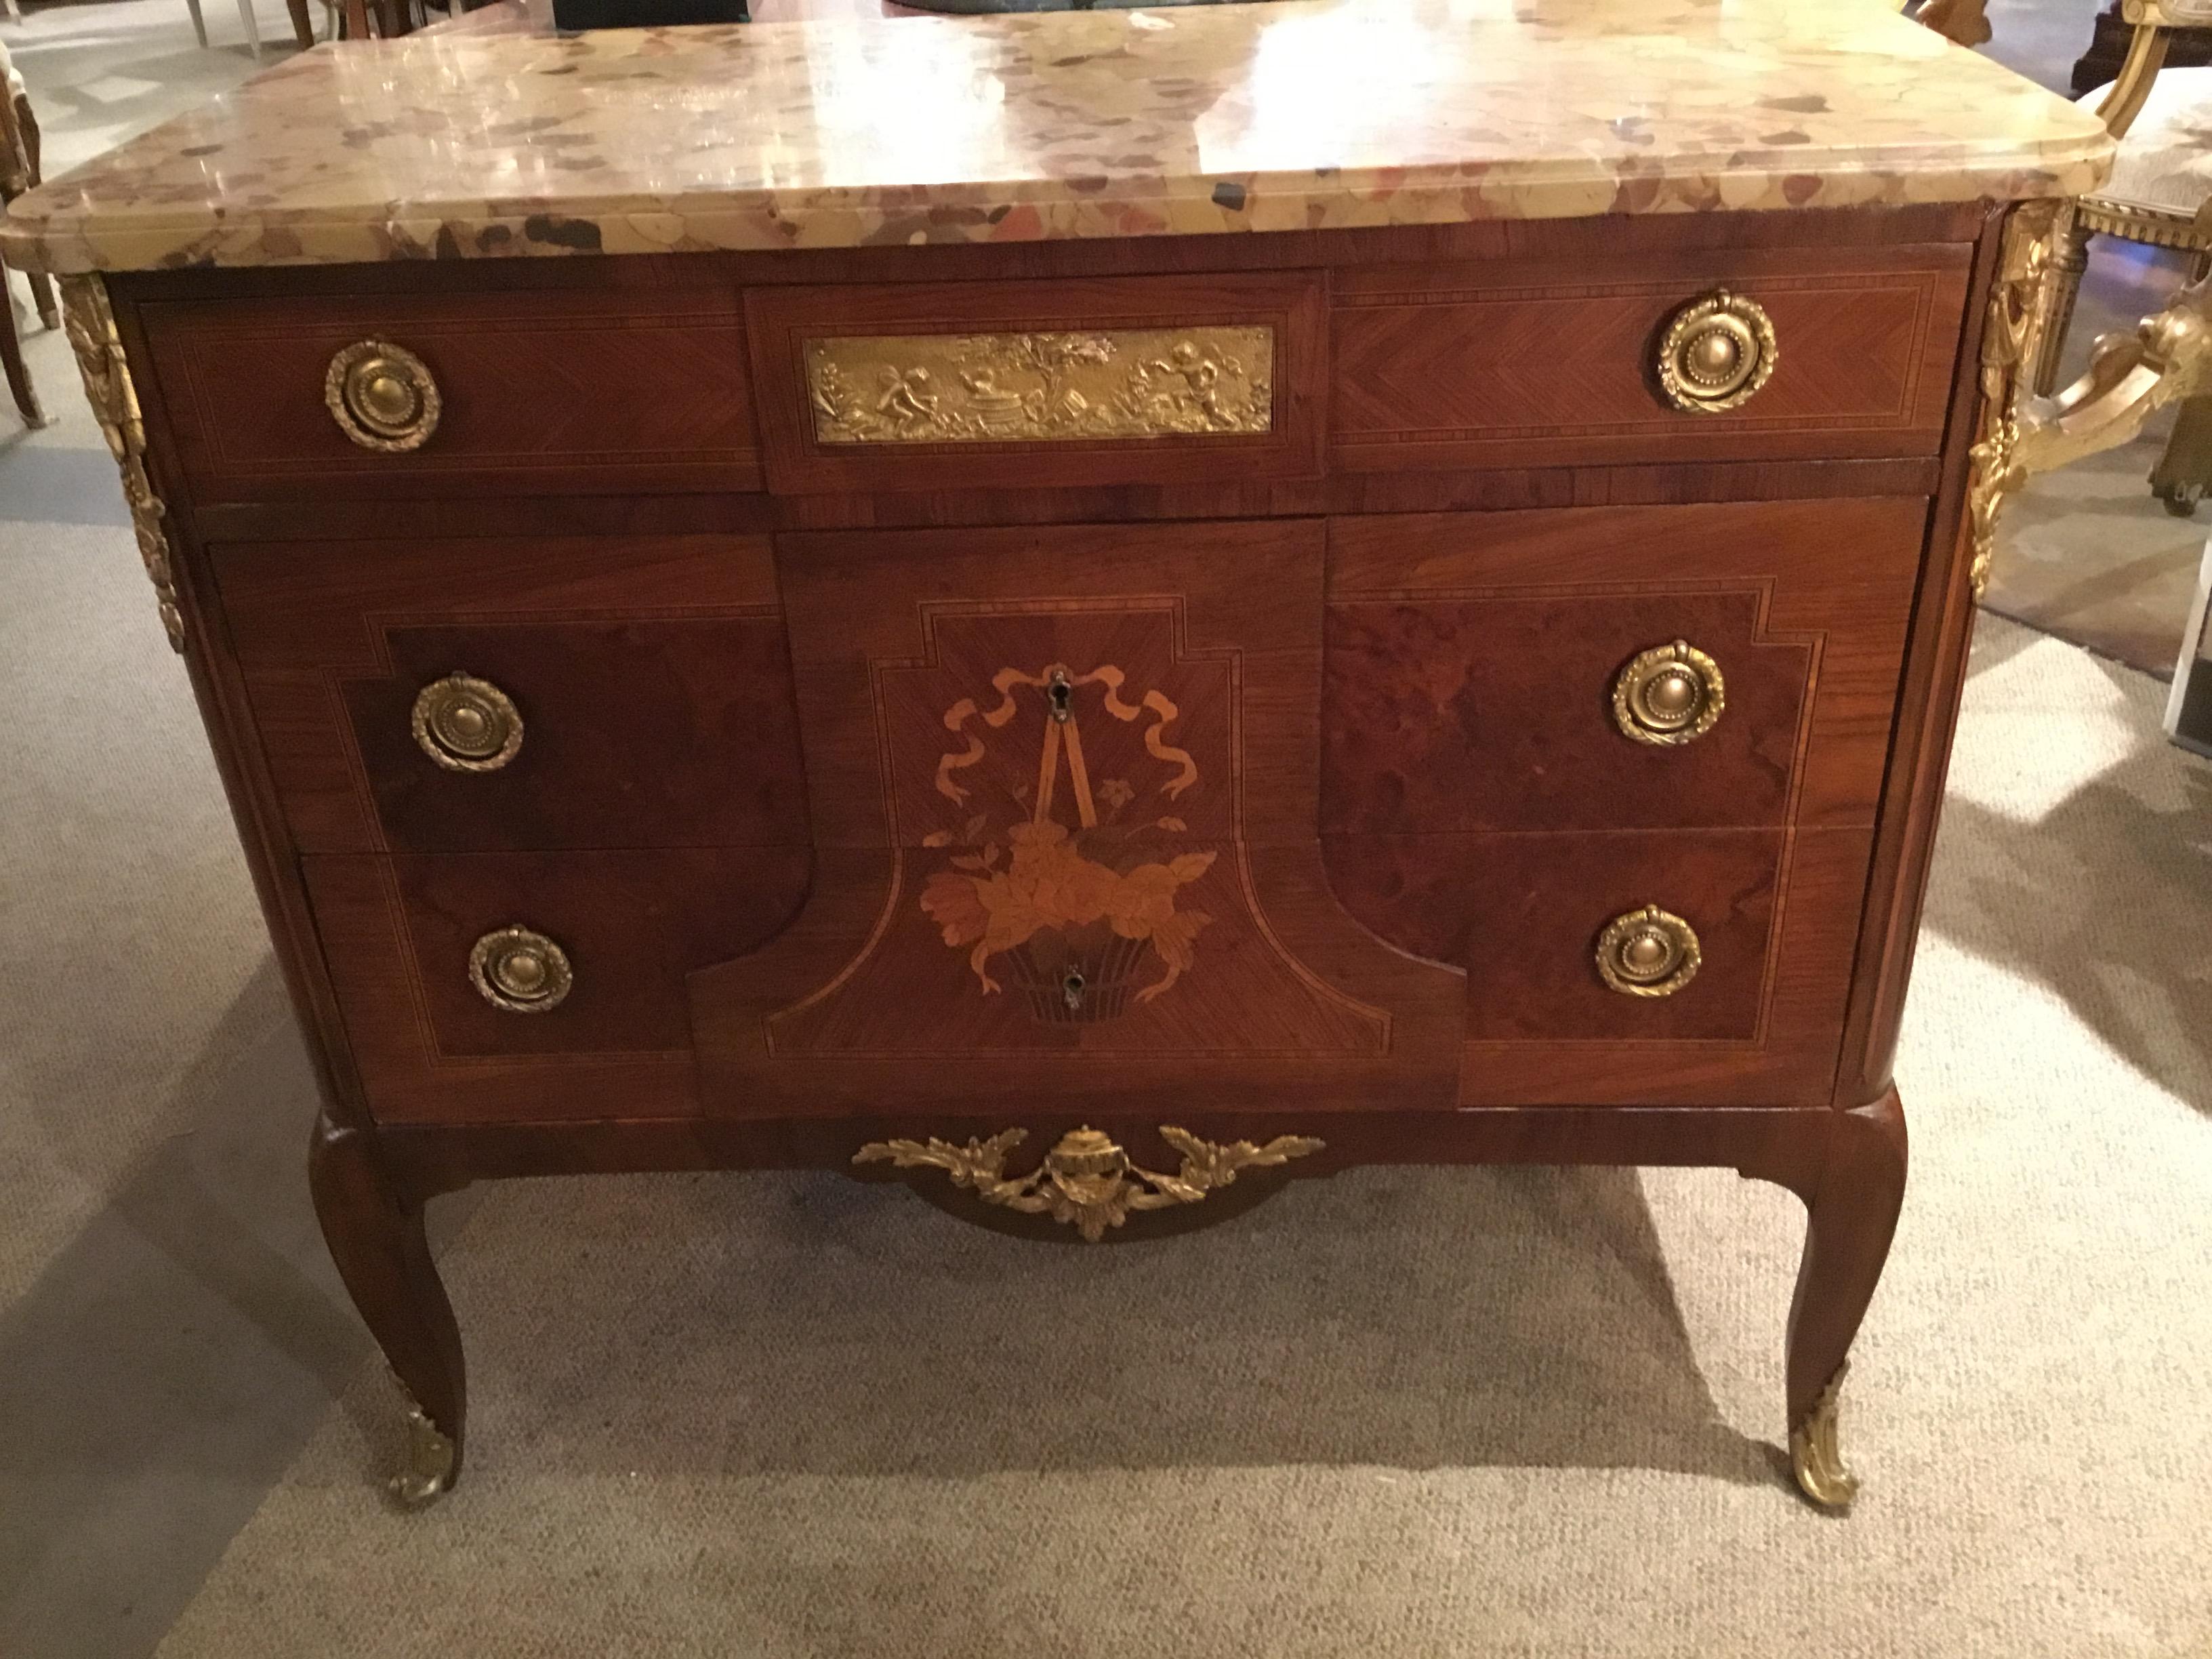
[[[1874,7],[1376,0],[378,42],[18,204],[403,1493],[460,1469],[422,1210],[476,1179],[1135,1239],[1586,1161],[1805,1199],[1785,1422],[1845,1502],[2013,383],[2106,150]]]

